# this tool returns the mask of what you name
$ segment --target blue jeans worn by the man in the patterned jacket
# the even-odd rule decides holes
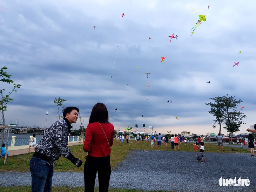
[[[32,192],[52,191],[53,164],[32,156],[29,169],[32,178]]]

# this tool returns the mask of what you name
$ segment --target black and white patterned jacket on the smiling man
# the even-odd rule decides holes
[[[56,121],[43,135],[35,148],[35,153],[41,153],[53,161],[58,160],[61,155],[68,159],[73,157],[68,148],[68,133],[71,128],[72,126],[66,118]]]

